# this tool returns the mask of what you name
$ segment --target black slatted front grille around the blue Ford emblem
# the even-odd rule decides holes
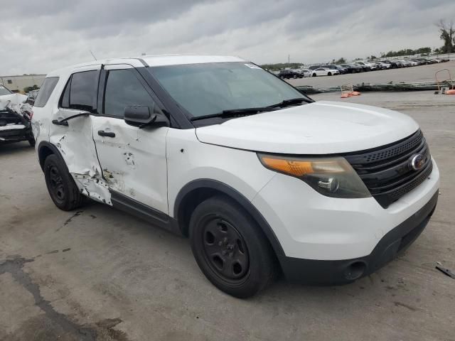
[[[411,160],[424,156],[424,166],[414,171]],[[424,182],[432,173],[433,163],[422,131],[394,144],[345,156],[371,195],[387,208]]]

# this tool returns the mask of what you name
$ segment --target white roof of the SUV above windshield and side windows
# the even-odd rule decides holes
[[[164,66],[164,65],[184,65],[184,64],[203,64],[203,63],[228,63],[228,62],[245,62],[244,59],[230,55],[141,55],[139,57],[129,58],[110,58],[104,60],[92,60],[87,63],[80,63],[60,70],[55,70],[48,74],[49,76],[60,75],[65,72],[72,72],[76,68],[87,67],[91,65],[112,65],[112,64],[129,64],[134,67],[141,66]]]

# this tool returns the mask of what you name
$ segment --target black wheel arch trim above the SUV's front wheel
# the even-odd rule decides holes
[[[272,227],[270,227],[269,223],[265,218],[262,216],[261,212],[257,210],[257,208],[252,204],[250,200],[248,200],[244,195],[239,193],[235,188],[226,185],[225,183],[221,183],[218,180],[212,179],[198,179],[193,180],[190,183],[181,188],[180,192],[176,197],[176,202],[173,209],[173,217],[178,219],[179,213],[181,213],[182,207],[181,203],[183,202],[186,195],[191,193],[193,190],[197,190],[200,188],[207,188],[211,190],[216,190],[220,193],[224,193],[229,197],[232,197],[235,201],[237,201],[247,212],[251,215],[251,217],[257,222],[259,227],[264,232],[265,237],[269,240],[269,243],[272,245],[272,248],[275,251],[275,254],[284,256],[284,250],[282,245],[279,243],[279,240],[276,234],[273,232]]]

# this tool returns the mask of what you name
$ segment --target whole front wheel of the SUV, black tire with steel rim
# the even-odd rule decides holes
[[[217,195],[201,202],[189,228],[200,270],[221,291],[247,298],[274,280],[277,261],[272,247],[234,200]]]

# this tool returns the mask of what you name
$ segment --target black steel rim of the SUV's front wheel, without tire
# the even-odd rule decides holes
[[[210,220],[203,229],[203,251],[210,268],[227,281],[238,281],[250,269],[242,235],[229,222]]]

